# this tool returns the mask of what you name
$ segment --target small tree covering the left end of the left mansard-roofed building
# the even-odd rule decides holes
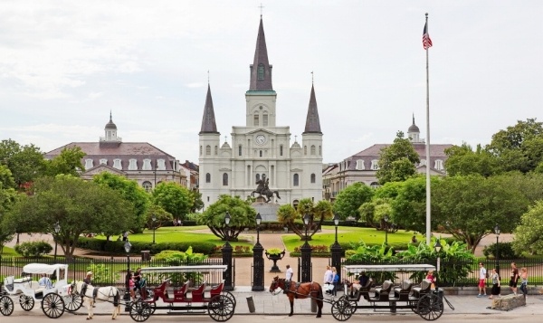
[[[45,163],[45,175],[57,176],[59,174],[79,177],[85,167],[81,164],[81,158],[85,157],[81,147],[65,147],[61,155],[47,160]]]

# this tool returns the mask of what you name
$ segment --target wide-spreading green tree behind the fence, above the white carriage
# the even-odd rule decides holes
[[[33,195],[21,195],[6,214],[19,233],[52,233],[71,258],[81,233],[110,235],[134,221],[132,204],[119,192],[73,176],[42,177]],[[61,231],[54,233],[54,223]]]

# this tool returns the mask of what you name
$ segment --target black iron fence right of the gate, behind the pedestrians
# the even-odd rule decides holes
[[[511,272],[511,262],[515,262],[518,269],[526,267],[529,273],[529,285],[537,286],[543,285],[543,258],[537,259],[502,259],[500,261],[490,260],[486,258],[474,258],[474,259],[462,259],[455,261],[440,261],[440,271],[434,272],[436,274],[437,282],[439,286],[447,287],[465,287],[465,286],[477,286],[479,282],[479,262],[482,262],[487,269],[488,279],[487,284],[491,285],[491,269],[496,268],[499,265],[500,268],[500,280],[502,280],[502,286],[508,286]],[[437,267],[437,261],[347,261],[341,260],[341,274],[339,277],[347,280],[356,280],[353,273],[348,272],[345,268],[346,265],[379,265],[379,264],[430,264]],[[393,272],[393,273],[378,273],[371,272],[368,275],[373,276],[376,280],[376,284],[381,284],[383,280],[400,280],[410,279],[414,282],[420,282],[425,278],[424,272]]]

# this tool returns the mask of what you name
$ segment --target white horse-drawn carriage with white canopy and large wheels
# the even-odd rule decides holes
[[[68,293],[68,265],[29,263],[23,268],[22,278],[8,276],[4,279],[4,294],[0,295],[0,313],[9,316],[14,312],[14,299],[21,308],[32,310],[36,301],[41,301],[43,313],[48,318],[60,318],[64,310],[75,311],[81,308],[82,299]],[[40,285],[33,275],[55,275],[54,283],[50,280]]]

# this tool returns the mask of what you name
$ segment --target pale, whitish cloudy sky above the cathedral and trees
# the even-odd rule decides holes
[[[198,162],[208,72],[217,127],[243,126],[263,23],[277,124],[303,131],[311,71],[335,162],[406,131],[487,144],[543,101],[541,1],[3,1],[0,139],[49,151],[97,141],[110,111],[125,142]]]

